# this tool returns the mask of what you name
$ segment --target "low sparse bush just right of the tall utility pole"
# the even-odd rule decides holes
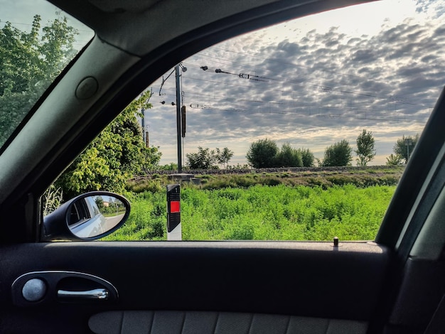
[[[203,149],[198,146],[198,153],[187,153],[186,165],[191,169],[216,169],[218,168],[217,163],[223,164],[230,161],[233,152],[225,147],[223,150],[216,148],[215,150],[210,150],[208,147]]]

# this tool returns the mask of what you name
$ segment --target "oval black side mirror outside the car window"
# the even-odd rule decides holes
[[[127,198],[107,191],[79,195],[43,217],[43,241],[95,240],[121,227],[130,213]]]

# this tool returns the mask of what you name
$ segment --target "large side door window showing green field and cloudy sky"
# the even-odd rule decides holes
[[[166,239],[173,183],[185,240],[372,240],[444,86],[442,11],[381,1],[202,50],[55,188],[126,195],[129,220],[109,240]]]

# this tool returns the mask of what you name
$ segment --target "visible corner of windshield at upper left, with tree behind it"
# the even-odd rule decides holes
[[[0,1],[0,149],[91,29],[43,0]]]

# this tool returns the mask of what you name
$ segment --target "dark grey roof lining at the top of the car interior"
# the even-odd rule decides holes
[[[209,23],[249,11],[249,16],[264,16],[262,6],[268,6],[269,15],[273,11],[298,9],[301,14],[309,4],[316,4],[318,11],[368,1],[325,1],[325,0],[164,0],[164,1],[127,1],[123,0],[50,0],[55,6],[90,26],[97,36],[109,44],[134,55],[143,56],[155,48],[178,36],[201,28]],[[258,9],[257,11],[255,11]],[[195,20],[190,20],[195,17]],[[152,18],[156,18],[155,20]],[[289,17],[291,18],[291,17]],[[264,21],[264,26],[275,22]],[[168,26],[168,29],[166,27]],[[117,29],[119,33],[117,33]]]

